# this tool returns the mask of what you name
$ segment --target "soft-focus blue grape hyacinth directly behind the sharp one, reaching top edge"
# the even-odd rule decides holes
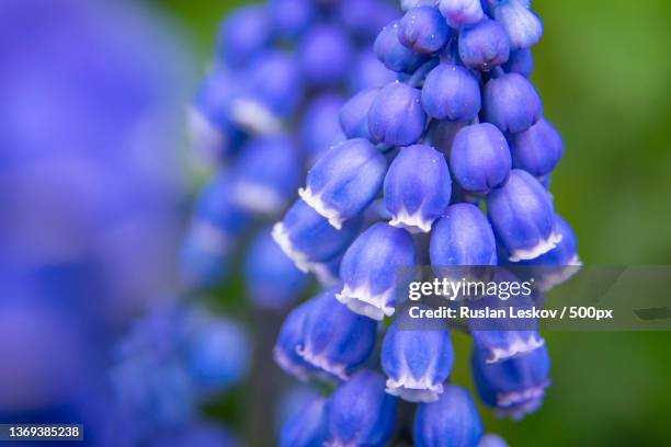
[[[386,0],[269,0],[223,22],[190,112],[195,149],[216,171],[182,250],[190,289],[216,285],[251,237],[242,270],[252,303],[286,309],[302,296],[308,277],[263,222],[286,211],[305,167],[344,139],[338,115],[346,95],[395,79],[371,44],[399,14]],[[323,266],[322,277],[329,272]]]

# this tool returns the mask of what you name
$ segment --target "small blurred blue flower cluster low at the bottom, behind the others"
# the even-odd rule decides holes
[[[122,428],[116,445],[239,445],[203,422],[198,408],[244,378],[250,352],[239,323],[202,306],[167,303],[148,311],[120,340],[110,368],[112,414]]]

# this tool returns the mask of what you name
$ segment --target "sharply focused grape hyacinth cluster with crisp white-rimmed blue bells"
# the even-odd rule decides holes
[[[382,321],[399,305],[400,272],[523,266],[543,279],[537,300],[575,272],[544,276],[543,266],[579,265],[573,231],[548,191],[564,144],[528,79],[543,32],[531,2],[402,3],[406,14],[374,45],[397,79],[343,105],[346,139],[311,165],[273,228],[298,268],[338,275],[289,313],[276,342],[285,371],[338,383],[319,411],[286,423],[282,445],[384,445],[397,398],[419,403],[418,446],[504,445],[482,435],[469,392],[448,382],[455,358],[446,326],[405,330],[400,314],[384,333]],[[492,280],[512,271],[497,268]],[[537,324],[469,328],[484,403],[513,419],[538,409],[550,381]],[[386,380],[372,370],[378,363]]]

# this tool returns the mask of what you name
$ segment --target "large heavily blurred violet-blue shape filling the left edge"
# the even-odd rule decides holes
[[[171,282],[172,41],[136,2],[0,2],[0,423],[110,440],[110,343]]]

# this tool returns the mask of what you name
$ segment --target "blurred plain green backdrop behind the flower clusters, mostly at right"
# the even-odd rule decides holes
[[[187,38],[198,72],[219,20],[239,1],[158,2]],[[671,264],[671,1],[545,0],[532,79],[566,154],[553,179],[559,213],[591,265]],[[512,446],[671,445],[671,334],[545,334],[554,386],[521,423],[485,411]],[[456,336],[454,381],[470,383]],[[260,428],[260,427],[259,427]]]

